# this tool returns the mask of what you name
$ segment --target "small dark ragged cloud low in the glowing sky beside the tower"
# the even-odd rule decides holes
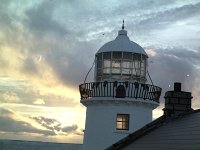
[[[38,116],[38,117],[31,117],[31,119],[35,120],[39,124],[41,124],[43,127],[51,130],[51,131],[62,131],[65,133],[76,133],[76,130],[78,129],[77,125],[72,125],[72,126],[64,126],[62,127],[62,124],[52,118],[46,118],[43,116]]]

